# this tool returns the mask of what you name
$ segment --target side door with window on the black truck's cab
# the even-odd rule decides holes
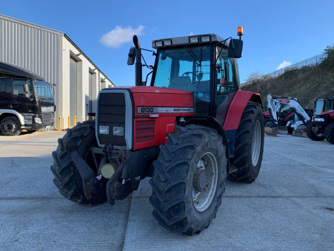
[[[28,93],[24,91],[25,84],[28,84]],[[19,113],[34,113],[34,99],[30,80],[12,80],[11,107]]]

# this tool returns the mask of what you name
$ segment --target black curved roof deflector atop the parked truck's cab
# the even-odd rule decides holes
[[[32,71],[5,62],[0,62],[0,77],[21,77],[45,81],[45,79]]]

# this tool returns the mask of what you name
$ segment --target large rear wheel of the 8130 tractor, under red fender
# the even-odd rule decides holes
[[[261,106],[248,102],[243,110],[234,143],[234,157],[230,163],[237,167],[229,178],[233,181],[252,183],[259,175],[263,147],[264,122]]]

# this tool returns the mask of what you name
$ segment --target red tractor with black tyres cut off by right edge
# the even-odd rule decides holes
[[[334,144],[334,97],[315,100],[313,114],[307,125],[307,136],[314,141],[326,139]]]

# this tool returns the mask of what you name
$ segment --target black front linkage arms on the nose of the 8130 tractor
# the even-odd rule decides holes
[[[153,166],[147,165],[147,162],[158,154],[157,147],[136,152],[126,151],[125,146],[116,150],[111,144],[105,144],[103,148],[93,147],[93,158],[98,170],[98,176],[96,176],[92,168],[76,152],[77,145],[67,140],[64,147],[81,176],[85,197],[89,200],[101,201],[107,196],[111,205],[115,204],[115,200],[125,199],[137,190],[140,180],[153,173]],[[101,174],[101,167],[107,163],[107,159],[118,165],[108,181]]]

